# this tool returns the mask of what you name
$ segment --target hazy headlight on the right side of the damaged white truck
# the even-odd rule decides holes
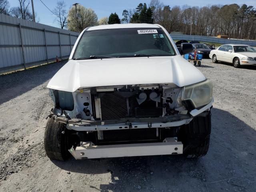
[[[185,86],[180,92],[177,102],[189,100],[194,108],[199,108],[212,101],[212,82],[206,80],[197,84]]]

